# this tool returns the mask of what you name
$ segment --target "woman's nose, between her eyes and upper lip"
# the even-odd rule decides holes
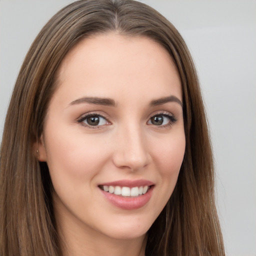
[[[115,166],[135,171],[148,165],[151,160],[149,148],[139,125],[130,125],[117,133],[113,153]]]

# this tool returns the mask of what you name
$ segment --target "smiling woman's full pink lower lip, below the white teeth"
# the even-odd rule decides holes
[[[109,202],[111,202],[118,208],[125,210],[138,209],[144,206],[150,200],[152,196],[152,190],[153,187],[150,187],[150,189],[145,194],[141,194],[139,196],[134,197],[123,197],[121,195],[116,195],[114,193],[111,194],[100,189],[100,191],[103,193],[103,195]]]

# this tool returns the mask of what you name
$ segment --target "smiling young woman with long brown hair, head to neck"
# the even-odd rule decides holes
[[[0,254],[224,255],[213,174],[177,30],[140,2],[71,3],[32,43],[9,104]]]

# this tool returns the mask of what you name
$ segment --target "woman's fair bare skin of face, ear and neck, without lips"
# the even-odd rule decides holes
[[[156,42],[106,33],[76,44],[58,80],[38,149],[54,187],[63,255],[142,256],[146,231],[174,189],[185,150],[181,104],[150,105],[170,95],[182,101],[176,68]],[[81,97],[110,98],[115,106]],[[88,119],[79,121],[87,113],[104,118],[93,128]],[[162,125],[152,123],[154,115]],[[121,179],[153,182],[149,201],[130,210],[106,200],[98,185]]]

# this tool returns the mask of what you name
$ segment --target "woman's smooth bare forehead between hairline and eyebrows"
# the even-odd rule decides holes
[[[180,78],[169,53],[145,36],[111,32],[82,39],[63,58],[58,81],[58,90],[70,91],[73,97],[80,93],[122,97],[147,91],[159,94],[155,98],[175,94],[182,100]]]

